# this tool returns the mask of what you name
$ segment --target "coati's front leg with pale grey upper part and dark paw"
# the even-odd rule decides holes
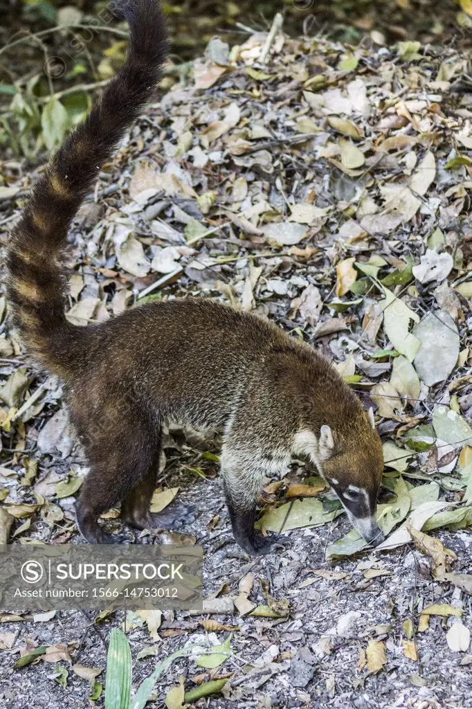
[[[255,451],[238,452],[229,440],[221,452],[221,473],[235,540],[248,554],[269,554],[280,538],[263,537],[254,530],[257,496],[266,475],[263,460]]]

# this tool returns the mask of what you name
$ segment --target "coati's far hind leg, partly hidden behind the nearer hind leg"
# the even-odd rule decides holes
[[[191,523],[196,517],[196,508],[179,502],[173,502],[169,510],[152,513],[150,504],[159,480],[160,432],[155,435],[154,457],[150,467],[142,475],[133,490],[121,504],[123,522],[138,530],[144,529],[179,529]]]

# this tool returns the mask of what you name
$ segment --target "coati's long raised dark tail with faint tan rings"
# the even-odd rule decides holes
[[[67,231],[103,162],[150,97],[167,55],[158,0],[118,0],[113,11],[130,24],[125,65],[47,164],[11,234],[6,259],[13,324],[33,357],[62,376],[65,353],[83,329],[64,316]]]

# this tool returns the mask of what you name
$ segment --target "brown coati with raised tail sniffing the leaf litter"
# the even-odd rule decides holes
[[[264,476],[306,454],[352,524],[381,540],[376,498],[383,470],[373,418],[332,365],[276,325],[203,298],[148,303],[99,325],[64,316],[67,231],[97,173],[160,77],[167,35],[157,0],[128,0],[125,65],[64,140],[11,234],[7,296],[35,359],[64,382],[91,471],[77,502],[89,542],[110,543],[98,518],[121,502],[126,523],[165,526],[150,513],[160,436],[172,419],[223,431],[221,472],[235,539],[249,554],[272,537],[254,532]]]

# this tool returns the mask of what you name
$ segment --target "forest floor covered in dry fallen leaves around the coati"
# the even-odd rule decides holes
[[[130,640],[133,686],[185,644],[231,635],[214,669],[176,661],[150,707],[180,676],[186,689],[228,678],[200,700],[215,709],[472,706],[471,57],[279,33],[264,62],[266,38],[212,40],[103,168],[71,232],[68,318],[217,298],[313,344],[374,408],[387,540],[366,548],[295,461],[261,496],[263,527],[290,543],[248,559],[232,540],[218,439],[172,425],[162,490],[201,510],[172,539],[205,549],[206,612],[0,613],[7,708],[103,706],[87,678],[99,693],[113,627]],[[36,175],[15,160],[3,175],[4,247]],[[81,543],[87,467],[60,383],[30,367],[0,303],[0,542]],[[116,514],[105,524],[123,531]],[[50,650],[15,669],[38,646]]]

